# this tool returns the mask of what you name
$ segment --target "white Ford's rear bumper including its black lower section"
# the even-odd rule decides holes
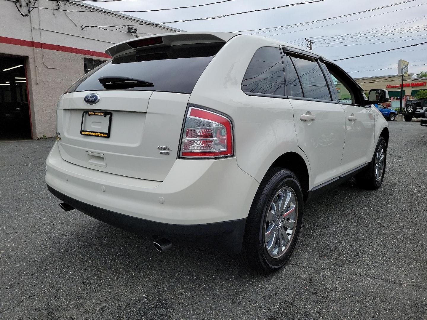
[[[79,211],[118,227],[135,224],[134,231],[170,240],[190,234],[229,240],[243,236],[259,186],[234,157],[178,159],[160,182],[77,166],[61,158],[55,143],[46,168],[50,191]]]

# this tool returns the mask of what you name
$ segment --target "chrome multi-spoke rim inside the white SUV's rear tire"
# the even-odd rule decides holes
[[[298,201],[290,187],[281,188],[273,197],[264,224],[264,245],[273,258],[282,256],[296,229]]]

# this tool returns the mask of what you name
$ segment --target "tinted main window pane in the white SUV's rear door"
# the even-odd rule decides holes
[[[314,59],[306,60],[292,56],[291,59],[295,64],[299,79],[301,79],[304,90],[304,97],[320,100],[331,100],[328,84],[326,84],[322,69],[320,68],[317,61]]]

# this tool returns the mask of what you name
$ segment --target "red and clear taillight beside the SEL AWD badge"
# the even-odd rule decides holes
[[[230,119],[221,114],[190,107],[184,123],[181,157],[227,157],[233,155]]]

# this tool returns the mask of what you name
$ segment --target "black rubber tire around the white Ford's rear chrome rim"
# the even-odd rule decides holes
[[[289,244],[281,253],[281,256],[273,258],[270,253],[268,253],[266,245],[264,244],[266,214],[269,212],[270,205],[277,192],[284,187],[290,188],[295,195],[294,198],[297,204],[295,229],[292,232],[292,236],[290,236]],[[260,183],[251,209],[249,210],[245,234],[243,236],[243,248],[242,252],[238,255],[240,262],[260,273],[272,273],[282,268],[290,258],[298,240],[303,210],[303,193],[296,175],[287,169],[269,169]]]

